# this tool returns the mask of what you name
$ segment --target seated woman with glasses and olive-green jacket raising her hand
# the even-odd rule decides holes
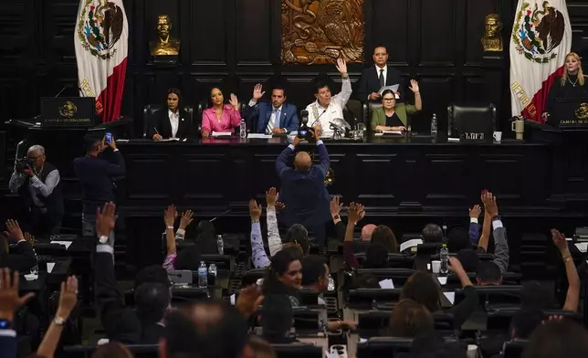
[[[382,92],[382,108],[372,112],[372,131],[406,131],[408,116],[423,109],[423,101],[415,79],[410,81],[410,89],[415,93],[415,105],[397,103],[394,92],[386,89]]]

